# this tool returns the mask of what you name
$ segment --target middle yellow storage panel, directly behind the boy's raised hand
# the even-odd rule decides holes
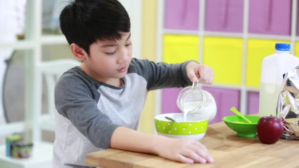
[[[240,38],[205,37],[204,64],[213,68],[214,83],[241,84],[242,52]]]

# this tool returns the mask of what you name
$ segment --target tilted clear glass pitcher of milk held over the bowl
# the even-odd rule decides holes
[[[206,90],[200,89],[199,79],[192,86],[183,88],[177,98],[181,112],[196,113],[209,117],[211,121],[217,111],[214,97]]]

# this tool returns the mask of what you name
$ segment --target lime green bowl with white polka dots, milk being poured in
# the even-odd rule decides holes
[[[200,114],[188,114],[184,122],[183,113],[165,113],[156,115],[154,122],[158,135],[169,138],[201,140],[206,135],[209,117]]]

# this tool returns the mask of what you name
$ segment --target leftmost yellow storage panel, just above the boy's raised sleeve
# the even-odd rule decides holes
[[[199,38],[190,35],[164,35],[163,61],[181,63],[186,60],[198,61]]]

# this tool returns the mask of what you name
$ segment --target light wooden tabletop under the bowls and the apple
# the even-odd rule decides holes
[[[181,164],[155,155],[107,149],[87,155],[86,164],[101,168],[299,168],[299,141],[280,139],[263,144],[257,138],[240,138],[224,122],[209,125],[200,140],[213,164]]]

